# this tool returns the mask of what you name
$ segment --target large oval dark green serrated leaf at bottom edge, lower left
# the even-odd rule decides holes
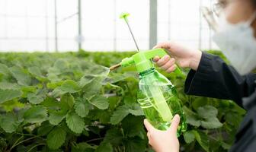
[[[50,149],[56,150],[64,144],[66,140],[66,131],[62,128],[56,127],[47,135],[47,146]]]

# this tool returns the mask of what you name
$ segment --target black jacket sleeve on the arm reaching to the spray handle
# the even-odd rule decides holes
[[[190,95],[234,100],[242,106],[256,87],[256,74],[241,76],[219,56],[203,52],[197,71],[190,70],[184,91]]]

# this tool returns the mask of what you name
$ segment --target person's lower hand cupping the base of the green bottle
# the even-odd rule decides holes
[[[148,130],[149,144],[156,152],[178,152],[180,144],[177,138],[177,129],[180,123],[180,116],[175,115],[171,126],[166,131],[154,128],[146,119],[144,125]]]

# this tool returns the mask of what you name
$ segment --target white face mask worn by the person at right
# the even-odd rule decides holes
[[[256,67],[256,40],[251,23],[256,12],[248,21],[230,24],[222,18],[219,31],[213,36],[214,42],[229,59],[239,74],[248,74]]]

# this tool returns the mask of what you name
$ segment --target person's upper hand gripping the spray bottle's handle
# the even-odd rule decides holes
[[[175,70],[175,62],[181,68],[192,68],[197,70],[202,56],[202,52],[200,52],[200,50],[188,49],[178,43],[173,42],[158,43],[154,49],[157,48],[166,49],[169,55],[165,55],[162,59],[155,56],[153,61],[156,62],[156,65],[168,73]]]

